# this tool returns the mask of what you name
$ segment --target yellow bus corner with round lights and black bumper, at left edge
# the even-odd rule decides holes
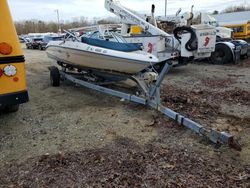
[[[0,1],[0,110],[15,112],[29,100],[25,59],[7,0]]]

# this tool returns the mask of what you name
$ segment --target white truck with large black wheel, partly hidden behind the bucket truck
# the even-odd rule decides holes
[[[179,9],[174,16],[157,17],[161,23],[167,23],[174,27],[189,26],[193,19],[193,6],[191,12],[180,14]],[[233,30],[226,27],[219,27],[217,20],[207,13],[200,14],[200,24],[210,25],[216,29],[215,51],[209,58],[211,63],[226,64],[238,63],[241,57],[248,56],[248,44],[244,40],[233,40]],[[166,25],[166,24],[165,24]]]

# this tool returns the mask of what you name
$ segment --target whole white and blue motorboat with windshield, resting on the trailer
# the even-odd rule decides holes
[[[46,47],[48,57],[83,70],[126,75],[137,74],[159,63],[156,56],[142,51],[141,44],[126,42],[107,26],[95,28],[80,33],[80,36],[67,31],[64,41],[49,42]]]

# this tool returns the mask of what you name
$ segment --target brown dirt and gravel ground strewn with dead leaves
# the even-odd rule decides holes
[[[30,102],[0,114],[0,187],[250,187],[250,61],[173,69],[162,102],[233,134],[215,146],[152,109],[63,83],[24,49]]]

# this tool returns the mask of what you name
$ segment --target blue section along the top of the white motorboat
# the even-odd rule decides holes
[[[87,37],[81,37],[81,41],[89,45],[98,46],[101,48],[107,48],[111,50],[122,51],[122,52],[133,52],[141,50],[141,44],[136,44],[136,43],[120,43],[120,42],[113,42],[109,40],[101,40],[101,39],[94,39]]]

